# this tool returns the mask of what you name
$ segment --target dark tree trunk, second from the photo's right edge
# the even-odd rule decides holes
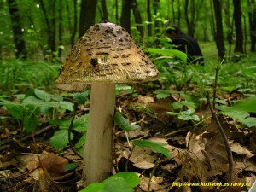
[[[234,5],[234,20],[235,20],[235,29],[236,29],[236,44],[235,52],[243,53],[243,35],[241,27],[241,1],[233,0]]]

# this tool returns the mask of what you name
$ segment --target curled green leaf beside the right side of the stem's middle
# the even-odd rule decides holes
[[[131,125],[129,119],[125,119],[119,112],[114,115],[114,122],[124,131],[134,131],[140,128],[139,125]]]

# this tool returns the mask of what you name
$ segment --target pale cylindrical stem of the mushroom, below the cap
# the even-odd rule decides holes
[[[113,113],[115,84],[93,83],[90,112],[84,148],[85,186],[102,182],[113,172]]]

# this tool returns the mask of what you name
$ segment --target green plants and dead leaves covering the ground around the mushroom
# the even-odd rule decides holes
[[[113,170],[132,179],[122,190],[125,181],[113,185],[117,177],[94,189],[250,189],[256,179],[256,57],[218,62],[205,51],[206,65],[195,66],[149,50],[160,79],[117,84]],[[57,90],[58,63],[1,62],[0,191],[79,191],[90,90]]]

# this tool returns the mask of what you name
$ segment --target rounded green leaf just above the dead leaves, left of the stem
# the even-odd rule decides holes
[[[70,137],[71,139],[73,138],[73,133],[71,133]],[[68,143],[68,130],[55,131],[54,136],[49,139],[49,143],[57,149],[65,148]]]

